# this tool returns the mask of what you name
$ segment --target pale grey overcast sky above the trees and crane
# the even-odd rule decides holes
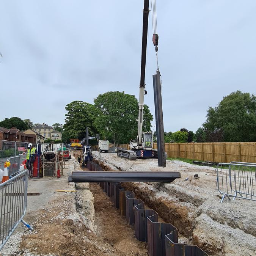
[[[196,131],[223,96],[256,93],[255,0],[156,2],[165,131]],[[143,0],[0,0],[0,120],[52,125],[71,101],[138,98],[142,9]],[[151,38],[150,14],[144,103],[155,115]]]

